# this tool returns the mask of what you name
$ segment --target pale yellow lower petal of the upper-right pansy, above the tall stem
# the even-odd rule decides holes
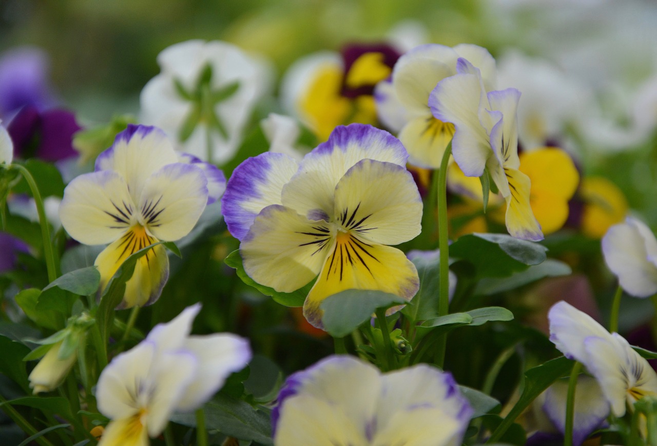
[[[443,152],[454,136],[454,125],[427,114],[413,118],[399,132],[399,141],[409,152],[409,163],[438,169]]]

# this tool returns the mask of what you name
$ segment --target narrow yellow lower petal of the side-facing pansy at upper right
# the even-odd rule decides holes
[[[509,180],[506,223],[509,234],[524,240],[543,240],[541,225],[530,206],[530,179],[516,169],[504,169]]]

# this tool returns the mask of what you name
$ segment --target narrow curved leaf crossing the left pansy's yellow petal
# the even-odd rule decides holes
[[[157,242],[142,248],[141,250],[131,254],[127,259],[124,260],[124,263],[116,270],[112,279],[107,284],[104,292],[101,296],[101,303],[98,305],[98,310],[96,314],[96,321],[101,330],[101,338],[104,345],[107,345],[107,340],[109,338],[109,332],[112,328],[112,321],[114,320],[114,309],[121,303],[123,296],[125,294],[125,282],[130,280],[132,274],[135,271],[135,265],[137,265],[137,260],[145,256],[146,253],[164,242]],[[101,354],[99,352],[99,354]]]

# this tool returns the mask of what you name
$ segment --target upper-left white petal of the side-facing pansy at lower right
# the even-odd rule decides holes
[[[550,340],[555,343],[556,348],[566,357],[585,365],[588,363],[589,353],[584,347],[584,340],[589,336],[611,339],[611,335],[602,325],[570,303],[555,303],[547,317],[550,321]]]

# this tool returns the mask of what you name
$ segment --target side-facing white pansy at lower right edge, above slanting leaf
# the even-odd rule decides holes
[[[550,340],[595,377],[614,416],[645,395],[657,395],[657,374],[618,333],[610,334],[589,315],[560,301],[549,312]]]

